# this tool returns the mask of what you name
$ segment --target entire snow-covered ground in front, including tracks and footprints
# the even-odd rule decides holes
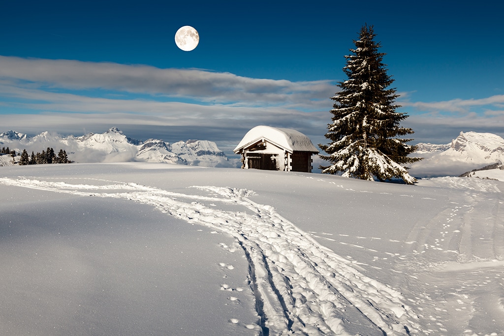
[[[504,182],[0,168],[2,335],[504,334]]]

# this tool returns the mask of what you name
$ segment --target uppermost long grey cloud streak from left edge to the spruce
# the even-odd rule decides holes
[[[305,109],[317,108],[319,102],[331,97],[336,89],[329,80],[291,82],[199,69],[6,56],[0,56],[0,79],[18,88],[43,92],[100,89],[158,96],[158,99],[166,96],[190,98],[200,103]],[[38,99],[35,91],[22,94],[25,99]]]

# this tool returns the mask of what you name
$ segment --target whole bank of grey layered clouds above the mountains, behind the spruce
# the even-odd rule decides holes
[[[325,144],[335,84],[0,56],[0,131],[79,136],[117,126],[140,140],[211,140],[230,154],[248,129],[266,124],[295,128],[314,144]],[[398,104],[410,115],[403,125],[415,131],[413,143],[445,144],[469,130],[504,136],[504,95],[440,102],[410,99],[404,94]]]

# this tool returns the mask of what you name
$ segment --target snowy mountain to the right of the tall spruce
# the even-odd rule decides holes
[[[459,176],[464,172],[504,162],[504,139],[492,133],[460,132],[447,145],[417,145],[413,154],[424,160],[411,166],[410,174],[424,176]]]

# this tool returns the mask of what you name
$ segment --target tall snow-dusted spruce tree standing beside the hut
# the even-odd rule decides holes
[[[331,165],[320,168],[323,173],[346,177],[380,181],[397,177],[413,184],[416,179],[402,164],[421,159],[408,157],[415,151],[406,145],[412,139],[396,138],[413,130],[399,125],[408,115],[396,112],[401,107],[394,104],[398,95],[389,88],[394,80],[387,75],[382,62],[385,53],[379,52],[382,45],[374,41],[375,36],[373,26],[363,26],[359,39],[353,41],[355,49],[350,49],[353,54],[345,56],[343,72],[348,80],[338,82],[341,91],[331,98],[335,101],[333,122],[325,135],[331,143],[319,145],[329,154],[320,157]]]

